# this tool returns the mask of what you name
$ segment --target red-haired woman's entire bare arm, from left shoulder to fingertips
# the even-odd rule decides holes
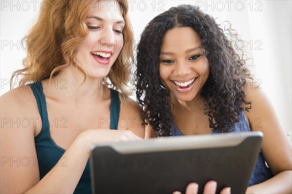
[[[38,118],[40,121],[32,91],[19,88],[4,94],[0,111],[0,193],[73,193],[89,159],[91,145],[96,142],[140,139],[130,131],[87,130],[64,153],[67,166],[61,166],[60,160],[39,180],[34,137],[41,126],[21,124],[23,119]],[[18,122],[7,123],[7,119]]]

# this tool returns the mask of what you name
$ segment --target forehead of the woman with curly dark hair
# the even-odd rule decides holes
[[[177,48],[180,47],[200,47],[201,38],[199,34],[191,27],[179,27],[168,30],[163,36],[162,48]]]

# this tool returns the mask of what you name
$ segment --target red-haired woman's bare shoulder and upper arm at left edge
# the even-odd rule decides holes
[[[32,123],[28,127],[23,127],[20,121],[28,119],[31,122],[32,118],[40,121],[40,117],[37,117],[34,111],[37,107],[27,106],[29,102],[33,102],[31,98],[27,99],[28,89],[19,88],[18,90],[22,90],[22,97],[14,89],[1,96],[0,99],[0,193],[24,193],[39,180],[34,144],[35,127]],[[28,102],[23,102],[24,98]],[[39,126],[36,125],[37,127]],[[24,162],[21,162],[21,159],[28,160],[29,165],[22,165]]]

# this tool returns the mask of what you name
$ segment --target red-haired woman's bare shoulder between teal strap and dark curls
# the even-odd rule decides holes
[[[133,99],[121,97],[121,110],[118,129],[130,130],[135,135],[144,138],[145,126],[142,125],[142,108]]]

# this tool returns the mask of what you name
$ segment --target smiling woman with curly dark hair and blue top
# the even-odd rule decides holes
[[[147,24],[136,70],[137,100],[152,128],[146,136],[259,130],[264,140],[247,193],[291,193],[291,144],[231,38],[237,35],[191,5]],[[189,187],[197,192],[196,183]]]

